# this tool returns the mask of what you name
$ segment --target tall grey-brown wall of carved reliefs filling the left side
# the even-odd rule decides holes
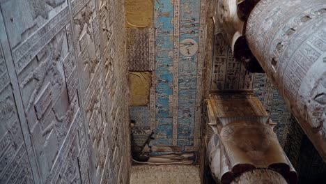
[[[0,8],[0,183],[127,183],[123,1]]]

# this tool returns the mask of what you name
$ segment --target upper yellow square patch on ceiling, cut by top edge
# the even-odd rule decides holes
[[[147,27],[153,22],[153,0],[126,0],[125,22],[127,27]]]

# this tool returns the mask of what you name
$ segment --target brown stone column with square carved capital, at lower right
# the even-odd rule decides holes
[[[297,173],[253,95],[212,94],[207,100],[207,159],[217,183],[297,183]],[[263,169],[263,170],[262,170]]]

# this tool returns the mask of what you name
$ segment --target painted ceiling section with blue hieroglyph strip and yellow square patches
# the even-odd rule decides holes
[[[137,14],[137,2],[153,7],[153,21],[149,13]],[[152,144],[164,152],[192,151],[199,145],[205,3],[125,3],[130,115],[137,126],[154,130]],[[148,82],[149,89],[143,87]]]

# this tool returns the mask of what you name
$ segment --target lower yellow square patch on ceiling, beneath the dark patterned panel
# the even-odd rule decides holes
[[[150,72],[129,72],[130,106],[148,105],[150,77]]]

